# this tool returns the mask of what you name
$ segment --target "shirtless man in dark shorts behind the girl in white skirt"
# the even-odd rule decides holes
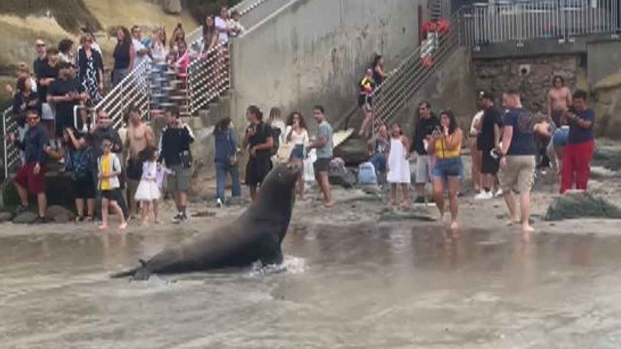
[[[155,147],[155,134],[150,126],[143,122],[140,110],[137,107],[129,109],[129,125],[127,125],[126,169],[127,169],[127,201],[129,203],[130,216],[137,213],[138,205],[134,200],[140,178],[142,177],[142,161],[140,152],[147,145]]]

